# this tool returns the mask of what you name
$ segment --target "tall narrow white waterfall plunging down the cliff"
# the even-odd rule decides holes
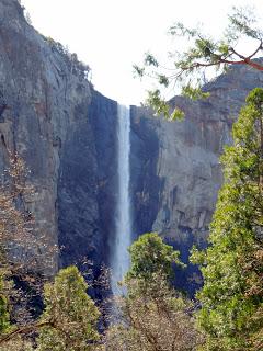
[[[129,199],[129,151],[130,151],[130,114],[129,107],[118,105],[117,126],[117,206],[115,222],[115,238],[112,251],[112,278],[111,287],[114,295],[124,293],[117,282],[122,281],[129,268],[129,254],[127,248],[132,244],[132,220]]]

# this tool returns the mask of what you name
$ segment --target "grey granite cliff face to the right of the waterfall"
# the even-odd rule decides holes
[[[222,183],[219,156],[231,143],[231,126],[248,92],[262,83],[262,73],[233,67],[205,87],[210,92],[207,100],[178,97],[171,101],[185,112],[183,122],[155,120],[150,111],[134,107],[137,235],[160,233],[186,262],[193,242],[205,245]],[[187,282],[185,275],[195,273],[194,267],[179,272],[181,285],[188,291],[196,283]]]

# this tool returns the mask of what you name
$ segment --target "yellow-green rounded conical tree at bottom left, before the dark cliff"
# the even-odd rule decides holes
[[[45,285],[45,312],[38,351],[94,350],[99,339],[98,308],[87,294],[88,285],[76,267],[60,270],[55,282]]]

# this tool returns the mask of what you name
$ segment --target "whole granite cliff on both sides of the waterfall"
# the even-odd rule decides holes
[[[7,149],[31,169],[37,190],[25,203],[58,265],[87,257],[95,270],[108,263],[116,204],[117,103],[87,79],[88,67],[57,43],[37,33],[16,0],[0,0],[0,170]],[[206,84],[210,97],[171,104],[185,112],[169,123],[150,110],[132,106],[132,184],[135,237],[157,230],[187,261],[193,242],[205,245],[222,176],[218,160],[231,143],[231,125],[249,90],[263,76],[245,68]],[[39,248],[42,248],[39,239]],[[52,273],[53,273],[52,272]],[[180,283],[196,273],[190,267]]]

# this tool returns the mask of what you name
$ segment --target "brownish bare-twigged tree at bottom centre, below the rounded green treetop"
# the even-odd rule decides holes
[[[168,284],[165,276],[153,273],[144,292],[134,279],[127,283],[127,292],[118,301],[122,318],[107,331],[106,350],[197,350],[202,336],[195,328],[194,306]]]

